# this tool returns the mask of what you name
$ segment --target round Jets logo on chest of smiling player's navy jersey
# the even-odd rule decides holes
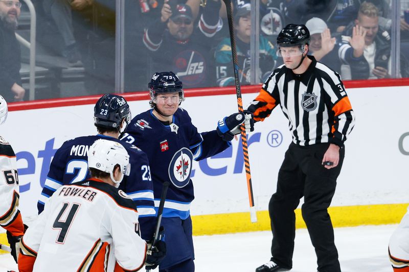
[[[173,155],[169,164],[169,178],[173,185],[182,188],[189,184],[192,161],[193,154],[186,147],[183,147]]]

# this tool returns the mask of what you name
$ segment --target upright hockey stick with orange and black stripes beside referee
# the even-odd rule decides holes
[[[233,55],[233,68],[234,68],[234,81],[236,83],[236,96],[237,96],[237,106],[239,112],[243,112],[243,101],[241,99],[241,89],[239,81],[239,64],[237,60],[237,50],[236,50],[236,37],[234,33],[233,26],[233,10],[231,0],[223,0],[226,5],[227,18],[229,21],[229,32],[230,32],[230,42],[232,44],[232,55]],[[243,144],[243,156],[244,156],[244,166],[246,171],[247,179],[247,190],[248,190],[248,201],[250,203],[250,220],[252,223],[257,222],[256,207],[254,206],[254,197],[253,197],[253,185],[252,185],[252,175],[250,172],[250,161],[248,158],[248,149],[247,149],[247,136],[244,128],[244,123],[240,126],[241,129],[241,143]]]

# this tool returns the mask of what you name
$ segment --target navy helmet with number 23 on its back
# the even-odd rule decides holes
[[[116,129],[125,118],[126,126],[131,121],[131,112],[125,98],[116,94],[105,94],[99,98],[94,107],[94,120],[96,126],[106,129]]]

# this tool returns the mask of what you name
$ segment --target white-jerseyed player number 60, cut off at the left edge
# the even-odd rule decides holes
[[[7,119],[7,103],[0,95],[0,125]],[[0,136],[0,226],[7,231],[11,255],[17,262],[18,242],[24,234],[18,210],[18,176],[16,155],[8,141]]]

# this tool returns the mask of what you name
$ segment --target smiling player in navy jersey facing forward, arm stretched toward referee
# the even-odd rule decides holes
[[[122,140],[137,144],[149,161],[155,162],[151,164],[151,174],[156,209],[163,183],[170,183],[162,218],[168,250],[160,271],[192,272],[192,161],[228,148],[234,135],[240,133],[243,122],[247,130],[251,129],[251,115],[232,114],[220,120],[216,130],[198,133],[188,112],[179,108],[184,101],[184,90],[173,72],[155,73],[148,87],[152,109],[132,119]]]

